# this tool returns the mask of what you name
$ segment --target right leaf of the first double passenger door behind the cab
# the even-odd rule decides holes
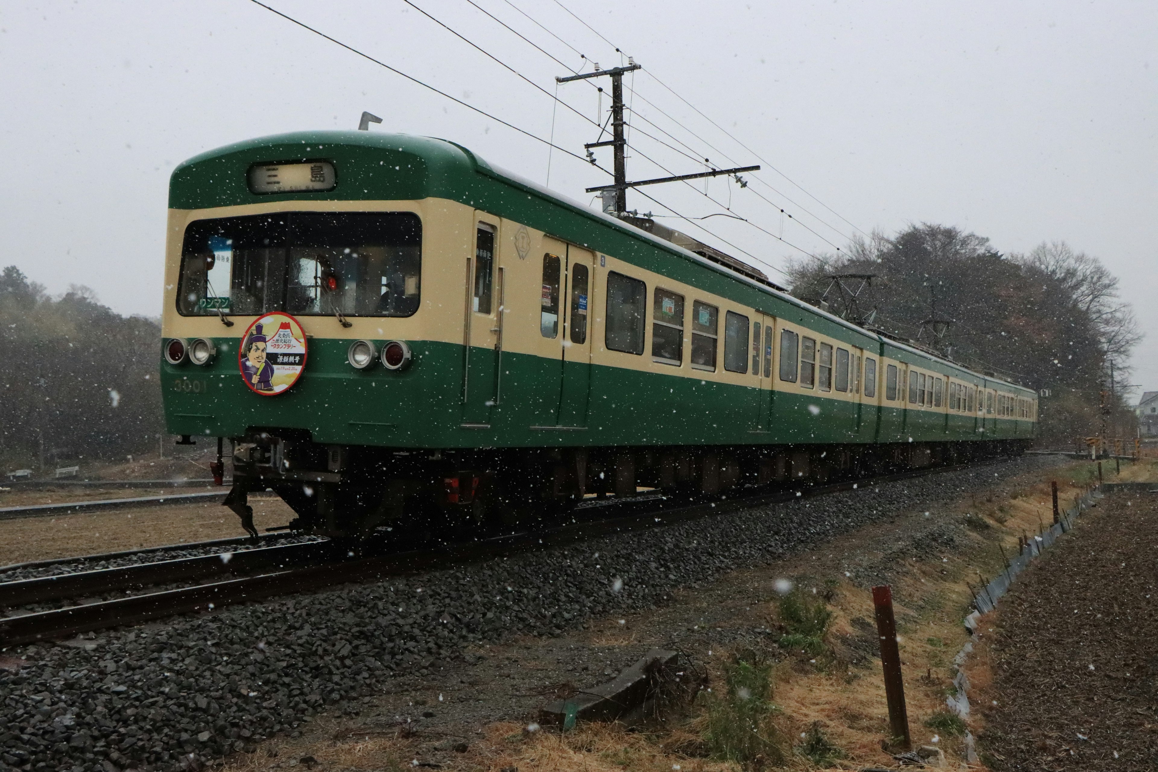
[[[567,244],[564,275],[563,334],[560,353],[559,426],[587,426],[591,395],[591,313],[595,288],[594,253]]]

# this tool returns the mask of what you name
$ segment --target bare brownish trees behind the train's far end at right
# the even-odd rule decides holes
[[[1142,339],[1134,311],[1117,278],[1064,242],[1003,255],[983,236],[922,223],[793,262],[789,274],[798,297],[1043,391],[1041,444],[1069,447],[1102,427],[1134,436],[1117,388]]]

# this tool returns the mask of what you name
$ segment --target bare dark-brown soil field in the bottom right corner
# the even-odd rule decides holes
[[[995,771],[1158,767],[1158,494],[1108,494],[982,618],[982,759]]]

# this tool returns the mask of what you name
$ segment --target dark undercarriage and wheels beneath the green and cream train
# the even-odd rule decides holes
[[[485,534],[559,522],[584,499],[661,488],[688,498],[801,488],[910,469],[1020,455],[1027,440],[892,444],[499,448],[325,446],[308,433],[233,439],[225,505],[256,536],[250,493],[272,490],[290,529],[362,541],[379,528]]]

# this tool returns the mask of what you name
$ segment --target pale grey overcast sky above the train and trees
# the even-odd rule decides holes
[[[548,93],[569,74],[468,0],[413,1]],[[761,163],[747,189],[645,190],[688,216],[731,205],[789,243],[721,216],[699,221],[713,235],[664,222],[774,279],[794,248],[914,222],[1003,252],[1063,240],[1122,279],[1149,333],[1134,382],[1158,389],[1158,3],[563,1],[581,22],[555,0],[474,0],[570,68],[618,65],[614,46],[635,57],[629,177]],[[403,0],[269,5],[572,153],[598,138],[608,100],[591,81],[558,87],[577,112],[555,109]],[[87,285],[122,314],[160,313],[173,168],[236,140],[354,128],[369,110],[373,131],[450,139],[538,182],[550,161],[550,186],[585,203],[607,182],[250,0],[7,0],[0,93],[0,265],[52,293]]]

